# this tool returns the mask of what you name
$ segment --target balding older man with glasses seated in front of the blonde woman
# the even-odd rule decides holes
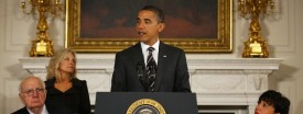
[[[12,114],[72,114],[67,109],[44,104],[46,90],[44,82],[37,77],[23,79],[19,90],[19,98],[25,106]]]

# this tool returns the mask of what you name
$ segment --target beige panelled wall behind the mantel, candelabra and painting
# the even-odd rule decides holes
[[[278,1],[278,0],[275,0]],[[280,0],[281,13],[277,20],[264,20],[262,36],[268,39],[270,56],[284,58],[280,70],[270,76],[270,89],[281,91],[291,100],[290,114],[303,114],[303,1]],[[237,58],[242,52],[242,42],[247,41],[248,21],[234,13],[234,53],[231,54],[187,54],[192,58]],[[64,21],[50,22],[50,35],[55,49],[64,46]],[[8,114],[22,104],[15,95],[18,84],[26,71],[18,61],[26,57],[30,42],[35,37],[36,21],[24,15],[19,9],[19,0],[0,0],[0,114]],[[98,54],[105,58],[113,58],[112,54]],[[94,55],[82,54],[89,57]],[[12,84],[13,83],[13,84]],[[11,89],[10,89],[11,88]],[[11,102],[11,105],[6,105]],[[17,106],[18,105],[18,106]],[[300,109],[301,107],[301,109]]]

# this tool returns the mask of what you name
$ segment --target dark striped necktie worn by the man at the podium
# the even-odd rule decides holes
[[[147,72],[148,72],[148,91],[154,92],[154,82],[155,82],[155,75],[156,75],[156,64],[152,56],[152,52],[154,50],[153,47],[149,47],[149,55],[147,60]]]

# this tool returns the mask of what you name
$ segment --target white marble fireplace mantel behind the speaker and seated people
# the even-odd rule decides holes
[[[45,79],[50,58],[19,59],[23,69]],[[278,70],[282,58],[187,59],[192,91],[198,105],[248,106],[253,114],[259,95],[268,90],[268,77]],[[96,92],[109,91],[115,59],[77,58],[77,77],[88,83],[90,102]]]

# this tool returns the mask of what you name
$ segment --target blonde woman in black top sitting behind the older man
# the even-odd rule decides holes
[[[90,102],[85,80],[76,78],[76,53],[57,52],[47,66],[45,81],[46,104],[69,109],[73,114],[90,114]]]

